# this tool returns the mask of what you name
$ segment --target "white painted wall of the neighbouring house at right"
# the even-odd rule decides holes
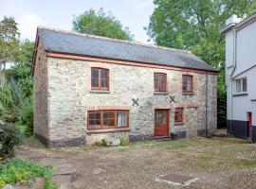
[[[237,37],[234,38],[235,30],[231,29],[226,33],[226,84],[228,87],[228,119],[247,121],[247,112],[252,112],[252,125],[256,126],[256,22],[237,31]],[[233,96],[231,93],[231,72],[234,64],[233,55],[234,39],[237,42],[237,64],[233,77],[247,77],[247,95]],[[245,72],[248,68],[251,68]],[[245,72],[245,73],[243,73]],[[243,74],[241,74],[243,73]],[[233,89],[233,94],[234,94]],[[233,107],[231,107],[231,102]]]

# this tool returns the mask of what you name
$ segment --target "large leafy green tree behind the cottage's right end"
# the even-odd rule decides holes
[[[244,17],[256,8],[254,0],[155,0],[146,27],[158,45],[191,50],[220,70],[218,95],[226,95],[225,42],[220,29],[231,14]]]

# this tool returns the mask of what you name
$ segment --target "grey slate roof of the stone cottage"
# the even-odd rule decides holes
[[[46,51],[216,71],[189,51],[38,27]]]

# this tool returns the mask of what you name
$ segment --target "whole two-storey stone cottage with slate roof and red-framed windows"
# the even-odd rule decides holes
[[[185,50],[38,27],[31,72],[46,146],[216,129],[217,72]]]

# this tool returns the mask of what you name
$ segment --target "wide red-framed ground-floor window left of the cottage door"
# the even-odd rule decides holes
[[[119,129],[129,127],[129,111],[89,111],[88,129]]]

